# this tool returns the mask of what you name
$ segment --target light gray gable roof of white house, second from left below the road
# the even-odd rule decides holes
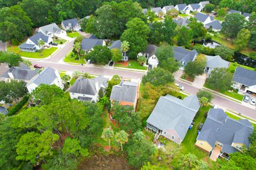
[[[55,70],[51,67],[47,67],[43,71],[41,71],[39,74],[36,75],[33,79],[29,81],[27,86],[29,86],[32,83],[37,84],[38,86],[40,84],[48,84],[51,85],[52,82],[57,78],[57,75],[55,74]]]

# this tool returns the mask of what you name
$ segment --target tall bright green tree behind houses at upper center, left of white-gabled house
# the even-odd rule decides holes
[[[139,52],[147,47],[149,28],[140,18],[134,18],[127,22],[127,29],[123,32],[121,40],[130,44],[129,56],[135,58]]]

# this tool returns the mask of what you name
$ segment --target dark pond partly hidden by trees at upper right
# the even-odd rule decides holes
[[[209,47],[209,48],[215,48],[215,47],[219,46],[219,44],[214,42],[213,40],[202,40],[202,41],[194,42],[194,43],[201,44],[201,45],[203,45],[205,47]],[[246,55],[244,55],[242,53],[235,52],[233,59],[234,59],[233,62],[237,62],[238,64],[253,67],[253,68],[256,67],[256,60],[253,60],[253,58],[247,57]]]

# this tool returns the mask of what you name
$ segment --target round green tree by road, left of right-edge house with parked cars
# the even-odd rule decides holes
[[[211,77],[207,79],[206,83],[213,89],[226,91],[231,86],[232,73],[225,68],[215,68],[211,72]]]

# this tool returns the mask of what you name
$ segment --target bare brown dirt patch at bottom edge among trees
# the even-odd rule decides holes
[[[79,164],[78,169],[83,170],[130,170],[132,169],[125,156],[94,155]]]

